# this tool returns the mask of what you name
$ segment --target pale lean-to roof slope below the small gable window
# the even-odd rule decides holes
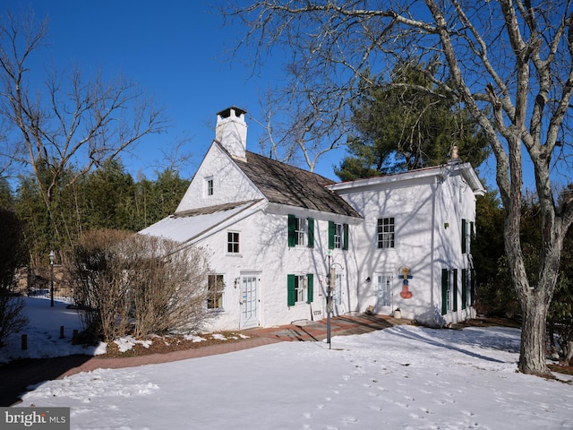
[[[159,236],[175,240],[175,242],[188,242],[202,236],[213,228],[250,208],[254,203],[233,202],[200,208],[192,211],[177,212],[161,219],[140,231],[142,235]]]

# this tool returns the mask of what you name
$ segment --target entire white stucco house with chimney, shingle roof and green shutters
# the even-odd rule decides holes
[[[210,253],[210,329],[372,312],[442,325],[475,316],[474,169],[448,164],[335,183],[246,150],[245,111],[218,113],[175,213],[141,231]]]

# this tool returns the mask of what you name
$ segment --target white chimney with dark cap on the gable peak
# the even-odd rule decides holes
[[[228,150],[235,159],[246,160],[247,124],[244,122],[246,110],[239,107],[227,107],[217,114],[215,139]]]

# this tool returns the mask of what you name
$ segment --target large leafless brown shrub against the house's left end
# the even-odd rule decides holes
[[[103,340],[197,331],[207,313],[207,254],[160,237],[95,230],[71,259],[74,299]]]

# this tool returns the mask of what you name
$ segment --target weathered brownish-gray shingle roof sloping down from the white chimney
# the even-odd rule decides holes
[[[234,159],[269,202],[362,218],[342,197],[327,189],[329,178],[246,151],[246,162]]]

